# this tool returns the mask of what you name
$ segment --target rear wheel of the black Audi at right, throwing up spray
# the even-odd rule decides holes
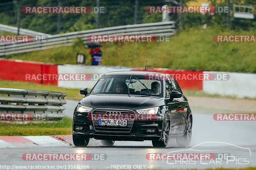
[[[179,147],[188,147],[192,138],[192,116],[189,117],[186,127],[186,132],[183,137],[176,138],[176,143]]]

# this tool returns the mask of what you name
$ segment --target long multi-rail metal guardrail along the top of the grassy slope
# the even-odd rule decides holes
[[[126,26],[115,26],[94,30],[78,31],[72,33],[57,34],[48,37],[46,42],[16,42],[0,43],[0,56],[18,54],[30,51],[53,48],[54,45],[70,46],[76,38],[87,41],[89,35],[174,35],[175,22],[157,22],[148,24],[135,24]]]

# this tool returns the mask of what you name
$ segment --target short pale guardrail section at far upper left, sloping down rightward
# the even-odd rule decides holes
[[[0,31],[5,31],[5,32],[17,34],[18,27],[7,26],[7,25],[0,24]],[[50,34],[40,33],[40,32],[31,31],[31,30],[27,30],[27,29],[23,29],[23,28],[20,28],[20,34],[21,35],[32,35],[32,36],[34,36],[34,35],[47,35],[47,36],[51,36]]]

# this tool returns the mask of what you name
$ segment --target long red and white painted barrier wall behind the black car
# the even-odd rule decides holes
[[[65,88],[92,88],[101,75],[110,71],[121,70],[138,70],[144,71],[144,68],[132,68],[121,66],[84,66],[84,65],[54,65],[39,62],[27,62],[20,60],[5,60],[0,59],[0,79],[14,80],[23,82],[33,82],[45,85],[57,85]],[[216,71],[192,71],[192,70],[171,70],[171,69],[147,69],[159,73],[172,74],[177,79],[183,90],[202,90],[207,93],[232,95],[239,98],[256,97],[256,74],[251,73],[231,73],[231,72],[216,72]],[[191,75],[213,75],[213,74],[228,74],[228,80],[205,80],[192,78]],[[74,80],[28,80],[26,75],[65,75],[65,74],[90,74],[89,80],[74,81]],[[177,76],[185,78],[177,78]],[[189,77],[190,75],[190,77]],[[188,78],[189,77],[189,78]],[[199,76],[200,77],[200,76]]]

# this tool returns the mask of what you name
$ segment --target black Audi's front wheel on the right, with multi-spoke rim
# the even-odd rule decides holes
[[[152,145],[154,147],[166,147],[169,141],[169,132],[170,132],[170,120],[169,116],[164,118],[164,125],[162,129],[162,139],[152,140]]]

